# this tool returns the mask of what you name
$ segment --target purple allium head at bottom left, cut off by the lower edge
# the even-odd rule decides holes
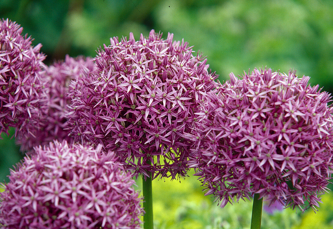
[[[0,193],[2,228],[140,227],[135,181],[113,152],[66,141],[34,149]]]

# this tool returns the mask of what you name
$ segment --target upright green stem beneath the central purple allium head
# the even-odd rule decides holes
[[[150,177],[146,177],[146,180],[142,178],[142,189],[144,193],[144,229],[153,229],[153,197],[152,197],[152,175],[148,173]]]

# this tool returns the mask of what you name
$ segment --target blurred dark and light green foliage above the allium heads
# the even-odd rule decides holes
[[[0,15],[42,43],[48,62],[95,56],[110,37],[155,29],[208,56],[221,80],[255,67],[291,68],[333,92],[331,0],[2,0]]]

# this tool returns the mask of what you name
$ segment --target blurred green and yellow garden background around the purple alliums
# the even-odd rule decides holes
[[[34,45],[42,43],[47,64],[66,54],[94,57],[110,37],[133,32],[139,39],[155,29],[200,50],[221,81],[255,67],[291,68],[333,92],[332,0],[0,0],[0,17],[21,24]],[[14,139],[2,137],[0,181],[8,180],[9,168],[22,158]],[[220,209],[191,174],[181,183],[153,182],[156,229],[249,228],[250,201]],[[138,184],[140,189],[140,179]],[[264,212],[262,228],[332,228],[332,193],[322,201],[316,214]]]

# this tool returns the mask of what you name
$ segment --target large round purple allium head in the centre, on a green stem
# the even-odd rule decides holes
[[[161,37],[152,30],[139,41],[132,33],[111,38],[94,59],[97,70],[72,85],[69,128],[76,141],[116,150],[136,176],[174,179],[186,174],[184,133],[217,76],[187,42]]]

